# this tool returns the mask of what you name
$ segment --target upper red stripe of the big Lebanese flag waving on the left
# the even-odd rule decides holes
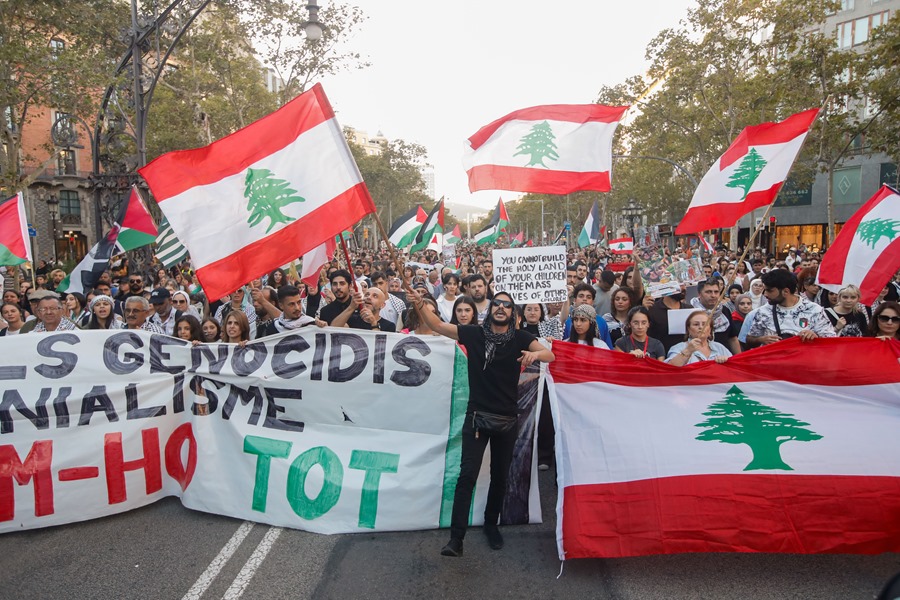
[[[240,173],[332,118],[334,111],[317,83],[309,92],[228,137],[203,148],[163,154],[138,172],[153,180],[153,194],[161,203],[192,187]]]

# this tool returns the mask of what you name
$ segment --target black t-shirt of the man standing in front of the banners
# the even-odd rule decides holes
[[[484,330],[480,325],[459,325],[459,343],[469,357],[469,411],[483,410],[499,415],[515,415],[519,403],[518,359],[535,338],[517,329],[513,339],[494,351],[494,360],[485,368]]]

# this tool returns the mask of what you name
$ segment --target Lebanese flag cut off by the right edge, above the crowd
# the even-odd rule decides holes
[[[883,185],[841,227],[819,265],[817,283],[832,292],[859,288],[859,301],[872,304],[900,270],[900,193]]]

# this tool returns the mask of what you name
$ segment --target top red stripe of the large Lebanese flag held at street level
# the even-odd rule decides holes
[[[799,338],[742,352],[722,365],[705,361],[675,367],[625,352],[554,341],[556,360],[550,373],[556,383],[602,381],[629,387],[734,384],[770,381],[763,373],[801,385],[881,385],[900,382],[900,342],[874,338]],[[786,365],[802,364],[802,369]]]

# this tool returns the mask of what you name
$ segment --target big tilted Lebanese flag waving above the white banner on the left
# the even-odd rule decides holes
[[[320,84],[226,138],[164,154],[140,173],[210,298],[375,212]]]

